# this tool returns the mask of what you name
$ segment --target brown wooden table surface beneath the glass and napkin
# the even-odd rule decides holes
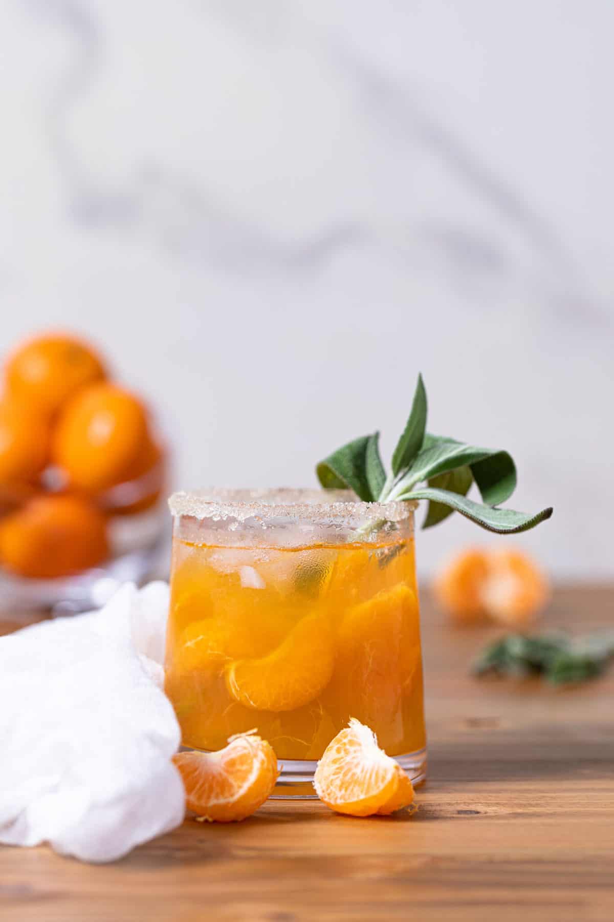
[[[560,590],[546,623],[611,627],[614,589]],[[415,816],[269,801],[98,867],[0,847],[0,919],[612,922],[614,669],[567,691],[469,678],[493,633],[423,605],[430,766]]]

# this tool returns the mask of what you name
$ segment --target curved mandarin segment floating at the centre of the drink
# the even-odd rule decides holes
[[[294,711],[329,683],[334,664],[330,627],[320,615],[295,624],[284,642],[260,658],[226,669],[226,686],[238,702],[261,711]]]

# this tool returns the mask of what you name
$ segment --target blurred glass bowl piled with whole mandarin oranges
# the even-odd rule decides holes
[[[0,611],[81,611],[145,580],[168,447],[143,397],[66,334],[17,345],[0,375]]]

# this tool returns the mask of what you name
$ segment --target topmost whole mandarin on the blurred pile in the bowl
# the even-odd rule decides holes
[[[30,339],[6,362],[9,392],[50,414],[81,387],[105,376],[102,361],[86,342],[61,334]]]

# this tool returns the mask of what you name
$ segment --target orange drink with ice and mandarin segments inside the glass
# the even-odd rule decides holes
[[[257,727],[316,760],[352,716],[392,755],[424,746],[413,541],[280,549],[177,539],[166,688],[183,743]]]

